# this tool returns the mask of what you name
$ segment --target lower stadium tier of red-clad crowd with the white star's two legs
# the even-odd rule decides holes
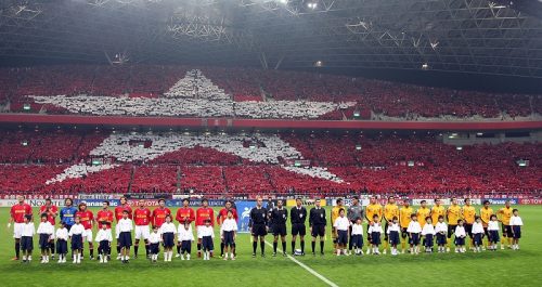
[[[542,191],[542,144],[435,135],[1,132],[3,194]],[[528,160],[525,167],[519,160]]]

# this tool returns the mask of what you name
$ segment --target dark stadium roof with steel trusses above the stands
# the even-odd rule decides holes
[[[539,78],[541,6],[538,0],[3,0],[0,57]]]

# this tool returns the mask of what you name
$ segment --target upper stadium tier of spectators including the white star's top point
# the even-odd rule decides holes
[[[188,66],[0,69],[0,110],[95,116],[327,120],[542,118],[542,95],[490,94],[345,76]]]

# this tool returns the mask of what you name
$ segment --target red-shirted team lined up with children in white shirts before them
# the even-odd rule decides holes
[[[192,222],[195,222],[197,234],[197,255],[202,257],[204,249],[204,259],[212,257],[215,237],[215,212],[208,206],[208,200],[202,200],[202,207],[196,211],[192,209],[189,199],[184,199],[183,207],[177,210],[175,219],[180,223],[177,229],[172,223],[173,214],[165,206],[165,200],[158,201],[158,207],[151,211],[145,207],[144,201],[140,200],[139,206],[132,210],[128,205],[126,197],[120,198],[120,205],[114,210],[109,209],[109,203],[103,201],[103,207],[94,216],[87,209],[87,205],[81,203],[78,207],[73,206],[70,198],[65,199],[65,207],[59,211],[59,208],[52,205],[50,199],[46,199],[46,205],[40,207],[40,225],[35,231],[33,221],[33,210],[28,204],[25,204],[24,197],[17,197],[18,204],[11,208],[10,222],[8,227],[14,223],[13,237],[15,239],[15,258],[20,260],[21,249],[24,251],[23,262],[31,261],[31,250],[34,249],[33,237],[35,233],[39,235],[39,246],[41,249],[42,263],[48,263],[49,259],[54,259],[55,252],[60,256],[59,263],[66,262],[67,240],[72,242],[74,263],[80,263],[83,253],[83,242],[89,245],[90,259],[94,259],[94,242],[99,243],[99,255],[101,262],[111,260],[111,243],[113,242],[112,223],[116,224],[117,238],[117,260],[127,263],[129,260],[130,248],[133,245],[134,257],[138,257],[141,240],[144,242],[145,253],[153,261],[157,259],[158,244],[165,248],[165,261],[171,261],[172,248],[175,247],[175,235],[178,235],[177,257],[184,260],[184,256],[190,260],[191,246],[194,242],[192,233]],[[56,218],[60,218],[60,226],[54,231]],[[217,223],[221,225],[221,257],[224,248],[230,250],[230,259],[234,260],[235,236],[237,230],[237,212],[232,207],[231,201],[227,201],[225,207],[221,209],[217,217]],[[93,237],[93,229],[99,225],[99,232]],[[133,226],[134,225],[134,226]],[[153,232],[151,232],[151,227]],[[132,244],[131,234],[134,233],[134,243]],[[207,237],[207,238],[206,238]],[[55,244],[56,240],[56,244]],[[105,242],[108,242],[106,244]],[[181,253],[182,251],[182,253]]]

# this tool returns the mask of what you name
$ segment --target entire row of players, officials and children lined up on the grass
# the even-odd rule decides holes
[[[363,255],[363,229],[364,219],[367,221],[367,250],[366,253],[379,255],[382,233],[384,233],[384,249],[386,253],[391,247],[391,255],[401,253],[398,245],[402,245],[402,253],[405,252],[405,245],[409,243],[411,253],[420,252],[420,244],[423,242],[426,252],[431,252],[434,243],[438,245],[439,252],[450,251],[451,238],[454,236],[455,252],[465,252],[465,244],[474,251],[480,251],[482,239],[486,237],[486,248],[496,250],[496,244],[501,240],[501,249],[508,239],[508,247],[519,249],[518,240],[521,237],[521,219],[516,209],[512,209],[509,201],[496,213],[489,206],[489,201],[480,209],[480,216],[476,214],[475,208],[469,199],[465,199],[465,206],[460,207],[457,200],[452,198],[450,207],[444,208],[440,200],[435,200],[435,206],[430,209],[422,201],[421,208],[416,211],[405,201],[399,208],[395,198],[388,198],[388,203],[383,207],[371,198],[371,203],[365,209],[361,206],[358,197],[352,199],[352,205],[348,208],[343,205],[341,199],[337,199],[337,205],[332,209],[332,237],[337,256]],[[54,258],[54,252],[59,253],[60,261],[66,261],[67,242],[70,239],[74,263],[80,263],[82,258],[83,240],[89,243],[90,257],[94,257],[93,242],[99,244],[99,255],[101,262],[107,262],[111,258],[112,223],[114,217],[117,221],[115,237],[117,238],[117,259],[127,263],[130,248],[133,246],[134,256],[138,256],[139,243],[144,240],[147,258],[157,260],[159,245],[164,247],[165,261],[171,261],[175,237],[177,235],[177,257],[190,260],[192,242],[192,222],[195,222],[197,234],[197,253],[204,260],[209,260],[214,253],[214,225],[215,216],[212,208],[208,207],[206,199],[203,199],[202,207],[194,211],[189,207],[190,201],[183,200],[183,207],[177,211],[175,219],[179,221],[179,227],[172,223],[173,216],[165,207],[165,200],[159,201],[159,207],[151,211],[141,201],[139,207],[132,210],[126,198],[120,198],[120,206],[114,212],[108,209],[108,201],[103,203],[103,208],[98,211],[96,217],[87,209],[85,203],[78,208],[73,206],[72,199],[65,200],[65,207],[59,212],[59,208],[53,206],[51,200],[46,200],[46,205],[40,207],[41,222],[37,232],[31,223],[31,207],[24,203],[24,197],[18,197],[18,204],[12,207],[10,223],[14,224],[15,238],[15,260],[20,258],[20,249],[23,249],[23,262],[31,260],[31,249],[34,247],[33,237],[37,233],[41,249],[42,263],[49,262],[49,258]],[[289,211],[292,223],[292,253],[305,255],[305,225],[309,218],[309,230],[312,236],[312,253],[315,252],[315,243],[320,237],[320,251],[323,255],[324,240],[326,234],[325,209],[320,206],[320,200],[315,200],[315,206],[307,214],[307,209],[301,205],[301,199],[296,200],[296,206]],[[61,227],[54,231],[55,219],[60,216]],[[283,206],[282,200],[278,200],[276,206],[262,206],[261,198],[257,199],[256,207],[249,212],[249,229],[254,237],[253,257],[256,257],[258,240],[260,242],[261,255],[264,257],[264,236],[268,232],[274,235],[273,256],[276,256],[279,239],[282,242],[282,250],[286,256],[286,222],[288,210]],[[384,229],[382,220],[384,219]],[[235,238],[237,232],[237,212],[233,203],[228,201],[220,210],[217,223],[220,225],[221,257],[228,260],[235,259]],[[448,221],[444,222],[444,220]],[[93,238],[92,229],[100,223],[100,230]],[[502,237],[499,236],[499,222],[502,225]],[[153,226],[150,232],[150,224]],[[136,225],[136,226],[133,226]],[[132,232],[134,232],[134,244],[132,244]],[[470,239],[466,239],[466,237]],[[296,240],[299,237],[300,249],[296,249]],[[56,243],[55,243],[56,239]],[[347,249],[348,245],[348,249]],[[55,248],[56,246],[56,248]],[[225,256],[224,256],[225,249]]]

